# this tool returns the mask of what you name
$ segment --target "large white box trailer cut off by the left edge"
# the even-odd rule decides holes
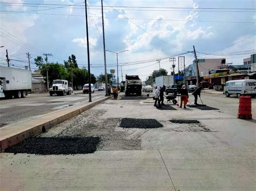
[[[0,97],[26,97],[31,87],[30,70],[0,66]]]

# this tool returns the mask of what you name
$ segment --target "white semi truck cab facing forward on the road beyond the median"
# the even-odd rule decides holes
[[[72,90],[68,88],[68,81],[66,80],[53,80],[52,88],[49,89],[50,96],[53,94],[57,95],[70,95]]]

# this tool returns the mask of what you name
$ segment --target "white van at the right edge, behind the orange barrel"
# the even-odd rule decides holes
[[[256,95],[256,80],[231,80],[227,81],[224,87],[223,94],[230,97],[231,94],[236,94],[238,97],[241,95]]]

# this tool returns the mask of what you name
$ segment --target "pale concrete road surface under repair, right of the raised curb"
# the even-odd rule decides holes
[[[40,136],[98,136],[101,144],[95,153],[1,153],[1,189],[256,190],[255,120],[237,118],[233,102],[238,99],[203,95],[207,105],[219,110],[177,105],[172,105],[176,110],[158,110],[152,98],[120,98],[98,104]],[[125,117],[156,119],[163,128],[122,128]]]

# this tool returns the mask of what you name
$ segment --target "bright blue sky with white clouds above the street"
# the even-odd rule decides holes
[[[101,1],[87,1],[91,73],[104,73]],[[254,0],[104,0],[106,50],[118,54],[119,80],[153,70],[172,70],[170,58],[226,58],[242,64],[256,52]],[[85,6],[82,0],[0,0],[0,65],[28,65],[52,54],[50,62],[63,63],[75,54],[80,68],[88,66]],[[128,51],[126,51],[128,50]],[[117,54],[106,52],[107,72],[117,71]],[[122,67],[121,67],[122,66]],[[122,68],[122,69],[121,69]]]

